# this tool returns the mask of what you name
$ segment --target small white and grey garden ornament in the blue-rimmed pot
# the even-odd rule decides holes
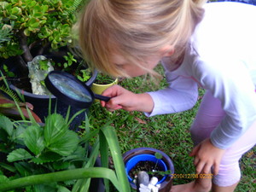
[[[157,182],[157,177],[152,177],[149,181],[147,172],[139,172],[137,175],[137,192],[158,192],[160,184],[156,184]]]

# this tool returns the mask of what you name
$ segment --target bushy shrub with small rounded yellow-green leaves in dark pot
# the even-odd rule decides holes
[[[10,74],[15,72],[15,78],[9,78],[12,90],[19,90],[34,106],[34,112],[44,121],[48,114],[49,96],[32,94],[25,88],[15,84],[21,79],[27,79],[28,62],[37,55],[47,55],[55,61],[53,67],[76,74],[79,72],[79,58],[74,58],[68,48],[72,44],[71,28],[76,21],[75,12],[85,0],[6,0],[0,2],[0,57],[3,58],[1,67]],[[1,34],[0,34],[1,38]],[[45,62],[40,62],[44,69]],[[13,73],[12,73],[13,74]],[[95,77],[95,76],[94,76]],[[87,85],[92,84],[93,79]],[[41,81],[40,81],[41,83]],[[29,82],[21,84],[29,84]],[[67,103],[57,101],[51,96],[52,108],[58,113],[67,111]],[[56,104],[57,103],[57,104]],[[76,113],[80,108],[71,108]],[[80,124],[84,115],[80,114],[73,121],[72,127]]]

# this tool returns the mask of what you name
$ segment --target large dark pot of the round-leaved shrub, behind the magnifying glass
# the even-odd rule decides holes
[[[63,59],[61,56],[58,57],[57,55],[49,55],[48,57],[56,62],[62,61]],[[2,65],[3,63],[5,65],[8,65],[9,71],[14,72],[19,77],[20,72],[19,68],[17,68],[17,65],[15,65],[15,57],[3,61]],[[90,79],[85,84],[90,87],[96,80],[96,76],[97,71],[95,70]],[[44,118],[47,117],[49,114],[49,100],[51,100],[51,113],[55,112],[56,109],[57,113],[61,113],[63,117],[66,117],[69,103],[62,102],[58,100],[55,96],[40,96],[32,94],[31,92],[28,92],[26,90],[20,90],[18,87],[15,86],[14,81],[12,80],[9,80],[9,88],[11,90],[14,90],[14,92],[19,91],[22,95],[24,95],[25,101],[32,104],[33,112],[36,113],[43,122]],[[72,118],[73,114],[79,112],[81,109],[84,108],[71,107],[69,117]],[[86,113],[88,113],[88,110],[86,110]],[[73,119],[73,122],[70,125],[70,129],[76,130],[84,119],[85,113],[80,113],[78,116],[76,116],[75,119]]]

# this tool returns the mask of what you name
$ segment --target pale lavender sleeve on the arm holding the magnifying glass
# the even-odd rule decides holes
[[[190,77],[166,72],[168,86],[164,90],[148,92],[154,101],[151,113],[145,113],[148,117],[156,114],[177,113],[195,106],[198,97],[196,82]]]

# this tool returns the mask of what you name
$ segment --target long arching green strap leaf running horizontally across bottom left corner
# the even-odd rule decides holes
[[[117,183],[117,178],[112,170],[104,167],[90,167],[17,178],[9,182],[0,183],[0,191],[22,188],[35,184],[53,183],[86,177],[106,177],[112,181],[113,185],[117,187],[117,189],[119,189],[119,183]]]

